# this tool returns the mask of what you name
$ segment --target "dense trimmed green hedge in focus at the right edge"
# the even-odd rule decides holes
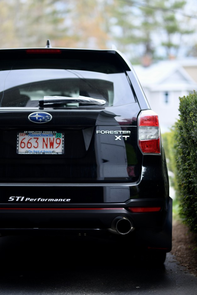
[[[179,100],[180,119],[173,127],[176,195],[184,223],[197,232],[197,93]]]

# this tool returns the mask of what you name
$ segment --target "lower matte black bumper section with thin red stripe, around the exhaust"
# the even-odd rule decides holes
[[[161,207],[158,212],[131,212],[129,208]],[[126,220],[126,222],[125,222]],[[123,222],[122,222],[123,221]],[[119,228],[118,228],[119,223]],[[121,224],[122,223],[122,224]],[[129,227],[130,226],[130,227]],[[162,199],[138,199],[125,203],[70,204],[69,207],[26,204],[0,205],[0,232],[64,230],[67,233],[109,232],[135,236],[150,249],[172,246],[172,199],[164,209]]]

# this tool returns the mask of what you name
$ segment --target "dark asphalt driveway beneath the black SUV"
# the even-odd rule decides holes
[[[64,237],[1,237],[0,294],[196,295],[197,277],[171,254],[164,266],[134,262],[128,249]]]

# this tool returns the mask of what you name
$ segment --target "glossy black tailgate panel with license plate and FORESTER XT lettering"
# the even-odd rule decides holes
[[[134,182],[140,177],[136,122],[120,125],[103,110],[47,112],[51,121],[35,124],[28,110],[1,111],[1,182]]]

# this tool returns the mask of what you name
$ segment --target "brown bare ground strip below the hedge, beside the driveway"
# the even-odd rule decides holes
[[[197,234],[191,233],[189,228],[179,220],[172,223],[172,250],[178,263],[189,273],[197,276]]]

